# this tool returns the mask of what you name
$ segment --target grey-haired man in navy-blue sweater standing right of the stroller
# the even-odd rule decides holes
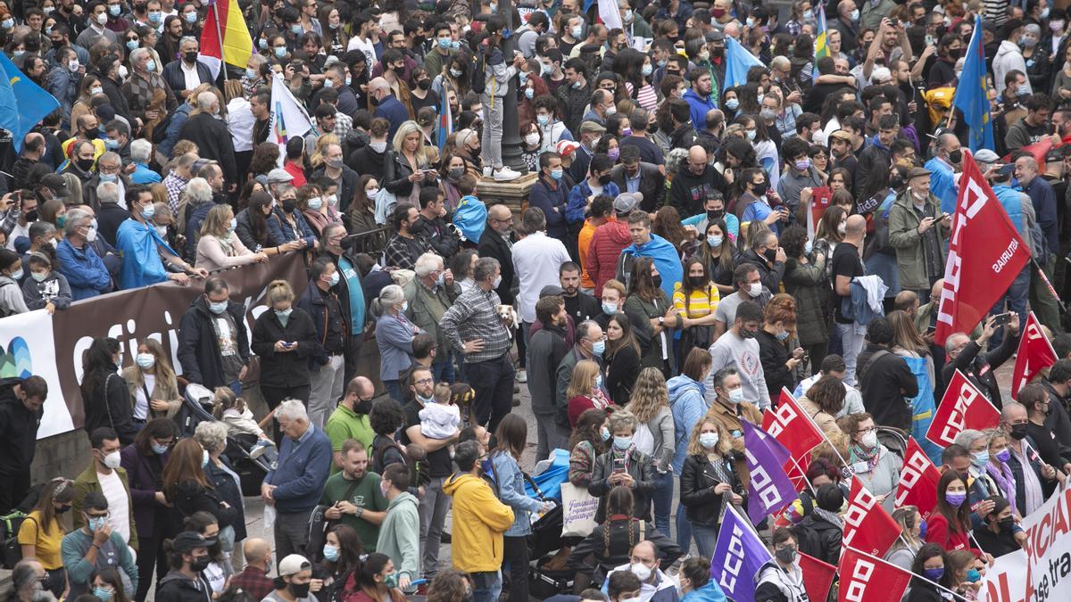
[[[286,400],[275,408],[284,435],[277,468],[260,485],[265,503],[275,508],[275,555],[305,554],[308,516],[319,503],[331,471],[331,439],[308,421],[301,400]]]

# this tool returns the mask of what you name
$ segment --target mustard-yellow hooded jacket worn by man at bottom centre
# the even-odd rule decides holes
[[[486,481],[468,472],[452,475],[442,491],[454,498],[454,569],[465,573],[502,568],[502,533],[513,526],[513,510],[495,497]]]

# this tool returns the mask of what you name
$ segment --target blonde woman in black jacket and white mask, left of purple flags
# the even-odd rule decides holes
[[[692,428],[688,457],[680,470],[680,502],[699,556],[709,558],[718,542],[722,505],[743,503],[743,481],[733,462],[733,438],[716,420],[704,418]]]

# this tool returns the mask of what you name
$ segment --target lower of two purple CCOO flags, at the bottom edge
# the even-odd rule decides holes
[[[773,556],[736,507],[725,508],[718,545],[710,559],[710,578],[733,600],[754,600],[755,575]]]

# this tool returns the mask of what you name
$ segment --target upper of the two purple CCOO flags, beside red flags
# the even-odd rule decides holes
[[[751,471],[748,484],[748,517],[757,525],[768,514],[776,514],[796,501],[796,487],[783,466],[790,454],[761,427],[743,421],[743,447]]]

